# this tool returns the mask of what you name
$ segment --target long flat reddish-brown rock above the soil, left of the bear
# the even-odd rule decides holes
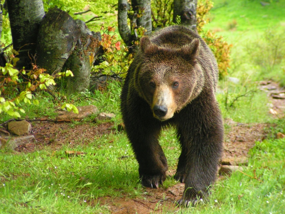
[[[78,114],[75,114],[73,112],[66,112],[63,115],[57,116],[56,120],[83,120],[91,114],[98,114],[98,109],[94,105],[79,106],[77,109]]]

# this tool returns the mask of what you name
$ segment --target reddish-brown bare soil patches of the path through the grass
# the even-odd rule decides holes
[[[268,92],[271,103],[268,107],[268,116],[284,117],[285,99],[273,99],[270,96],[272,92],[281,91],[282,88],[274,82],[261,82],[260,89]],[[270,109],[275,110],[277,116],[270,114]],[[269,124],[239,124],[229,118],[225,119],[224,122],[229,128],[225,135],[223,159],[246,162],[249,149],[255,145],[256,141],[266,138]],[[78,144],[88,144],[94,138],[100,138],[104,134],[114,132],[113,126],[114,124],[111,122],[74,126],[67,123],[34,122],[32,134],[34,134],[37,143],[23,144],[16,150],[18,152],[33,152],[42,150],[47,146],[52,150],[60,150],[62,146],[68,144],[69,148],[73,148]],[[169,176],[173,176],[174,173],[175,169],[168,171]],[[160,187],[159,189],[145,188],[144,190],[143,198],[130,199],[126,195],[121,195],[115,199],[103,197],[98,200],[101,205],[107,205],[111,213],[158,213],[162,211],[162,207],[163,210],[176,211],[178,208],[174,206],[174,202],[182,196],[184,184],[177,183],[166,189]],[[158,206],[159,204],[160,206]]]

